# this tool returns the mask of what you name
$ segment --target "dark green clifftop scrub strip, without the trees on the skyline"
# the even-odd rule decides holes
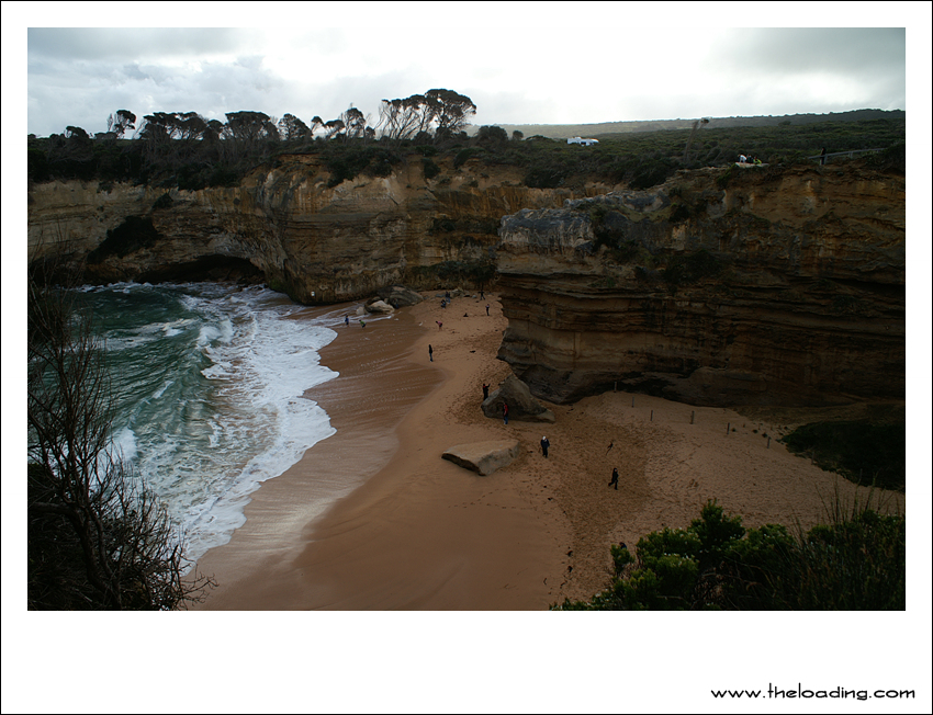
[[[509,139],[504,130],[492,130],[498,127],[481,127],[473,137],[460,133],[441,137],[419,135],[405,140],[176,139],[157,147],[143,139],[98,140],[81,133],[30,137],[27,168],[30,181],[36,183],[76,179],[98,180],[102,190],[114,182],[198,190],[237,185],[259,167],[274,167],[289,156],[315,155],[326,167],[330,186],[358,175],[385,177],[395,167],[412,161],[424,167],[427,180],[445,179],[439,174],[441,163],[450,163],[454,172],[466,173],[507,166],[520,168],[524,183],[530,188],[572,188],[605,181],[648,189],[678,169],[730,166],[740,154],[756,156],[766,163],[794,164],[812,163],[808,157],[819,155],[822,148],[832,154],[900,145],[901,149],[888,163],[902,168],[904,125],[903,118],[800,125],[788,120],[779,126],[709,126],[700,130],[604,135],[593,147],[567,145],[564,139],[542,136]],[[443,158],[448,161],[441,161]]]

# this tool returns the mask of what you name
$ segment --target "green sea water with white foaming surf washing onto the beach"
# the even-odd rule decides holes
[[[156,491],[196,560],[245,523],[249,495],[331,435],[303,393],[337,376],[319,364],[341,310],[260,286],[86,287],[116,401],[113,440]],[[297,319],[301,318],[301,319]]]

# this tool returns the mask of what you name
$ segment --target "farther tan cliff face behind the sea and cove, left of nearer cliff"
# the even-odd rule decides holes
[[[393,283],[434,288],[439,272],[453,282],[491,271],[503,215],[611,189],[527,189],[518,170],[439,164],[432,180],[417,161],[335,188],[313,156],[283,157],[234,189],[40,184],[29,196],[30,261],[87,259],[91,283],[249,276],[302,303],[337,303]]]

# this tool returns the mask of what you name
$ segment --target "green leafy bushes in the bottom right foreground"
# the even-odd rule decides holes
[[[663,529],[610,548],[609,586],[558,611],[904,610],[906,522],[839,495],[827,524],[791,533],[745,529],[707,502],[687,529]]]

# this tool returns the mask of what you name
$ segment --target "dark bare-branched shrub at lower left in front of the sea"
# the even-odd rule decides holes
[[[80,295],[30,276],[27,605],[183,608],[214,582],[186,574],[183,540],[114,449],[108,370]]]

